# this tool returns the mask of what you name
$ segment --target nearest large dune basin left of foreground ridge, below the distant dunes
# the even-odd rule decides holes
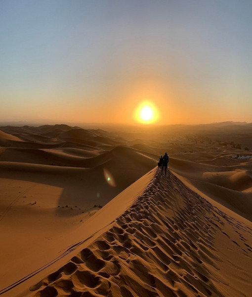
[[[104,206],[156,164],[152,158],[132,148],[116,148],[91,157],[73,154],[70,157],[72,149],[64,154],[50,152],[54,162],[57,157],[58,162],[64,160],[71,167],[38,164],[47,151],[6,150],[12,161],[3,161],[4,152],[0,155],[0,186],[4,193],[0,201],[0,232],[4,243],[0,253],[5,255],[1,259],[1,286],[17,281],[24,272],[29,274],[57,257],[62,249],[72,244],[64,238],[70,239],[75,228],[100,209],[94,205]],[[14,158],[27,163],[15,162]],[[11,222],[17,220],[22,224],[13,227]],[[18,241],[18,253],[9,238],[10,232],[11,238]],[[25,234],[33,238],[29,245]],[[38,254],[41,257],[36,261]],[[26,269],[24,261],[30,263]],[[15,262],[17,273],[13,274],[10,262]]]

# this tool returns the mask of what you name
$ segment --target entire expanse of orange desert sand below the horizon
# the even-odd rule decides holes
[[[0,130],[2,296],[251,296],[251,124]]]

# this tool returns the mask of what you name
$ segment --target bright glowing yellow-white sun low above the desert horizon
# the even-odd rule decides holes
[[[135,118],[142,124],[152,124],[158,119],[158,111],[152,102],[142,102],[135,111]]]

